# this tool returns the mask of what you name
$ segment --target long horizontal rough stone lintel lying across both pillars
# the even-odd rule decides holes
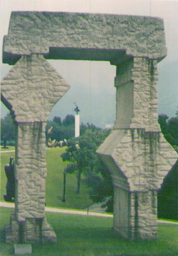
[[[4,37],[3,61],[14,63],[19,56],[34,53],[56,59],[116,61],[125,51],[131,56],[164,58],[167,51],[163,20],[127,15],[14,11],[8,35]]]

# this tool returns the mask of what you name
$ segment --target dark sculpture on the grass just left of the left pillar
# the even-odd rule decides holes
[[[14,162],[12,163],[13,158],[10,157],[9,164],[6,164],[4,169],[7,176],[6,184],[6,193],[4,195],[4,200],[13,202],[15,197],[15,179],[14,179]]]

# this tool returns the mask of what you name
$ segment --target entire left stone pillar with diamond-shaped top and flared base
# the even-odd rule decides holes
[[[16,125],[15,211],[6,242],[55,242],[44,214],[47,176],[45,126],[49,113],[69,88],[43,58],[22,56],[2,81],[2,100]]]

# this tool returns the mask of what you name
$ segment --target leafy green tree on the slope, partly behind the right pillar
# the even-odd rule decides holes
[[[110,174],[96,153],[97,148],[109,133],[109,130],[88,129],[80,137],[70,139],[66,152],[61,155],[63,161],[70,161],[75,167],[73,170],[78,180],[78,193],[81,173],[85,175],[85,181],[91,187],[90,196],[94,202],[113,196]]]

